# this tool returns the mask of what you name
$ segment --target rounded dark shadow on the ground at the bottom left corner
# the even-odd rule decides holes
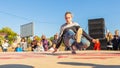
[[[34,68],[34,67],[29,65],[22,65],[22,64],[5,64],[5,65],[0,65],[0,68]]]

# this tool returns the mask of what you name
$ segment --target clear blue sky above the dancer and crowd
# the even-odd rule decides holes
[[[120,0],[0,0],[0,29],[10,27],[20,34],[20,25],[34,22],[35,35],[51,37],[65,23],[66,11],[85,31],[94,18],[104,18],[112,33],[120,29]]]

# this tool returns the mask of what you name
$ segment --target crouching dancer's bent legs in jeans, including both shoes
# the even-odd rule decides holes
[[[76,36],[76,38],[75,38]],[[76,45],[78,43],[80,43],[80,46],[84,46],[84,48],[87,48],[90,46],[90,42],[82,36],[82,29],[80,28],[77,32],[77,34],[75,35],[75,33],[72,30],[68,30],[65,34],[64,34],[64,44],[67,47],[70,47],[72,50],[73,54],[76,54],[75,50],[76,50]],[[82,43],[82,45],[81,45]]]

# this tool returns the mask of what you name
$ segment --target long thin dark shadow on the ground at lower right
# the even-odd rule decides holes
[[[92,68],[120,68],[120,65],[99,65],[99,64],[77,63],[77,62],[58,62],[58,64],[74,65],[74,66],[91,66]]]

